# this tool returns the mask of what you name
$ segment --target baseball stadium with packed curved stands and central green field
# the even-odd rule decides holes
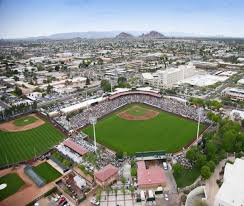
[[[152,92],[117,93],[72,117],[72,125],[82,127],[93,141],[91,116],[97,119],[96,141],[128,155],[157,150],[178,152],[196,139],[198,130],[196,108]],[[199,125],[199,134],[205,127]]]

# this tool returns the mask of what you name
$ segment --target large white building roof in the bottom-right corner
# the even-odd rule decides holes
[[[244,205],[244,160],[236,159],[234,164],[227,163],[224,182],[215,196],[214,206]]]

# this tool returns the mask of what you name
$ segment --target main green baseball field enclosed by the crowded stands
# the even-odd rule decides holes
[[[146,117],[145,114],[149,111],[154,111],[157,115],[140,120],[130,120],[121,116],[126,112],[127,116],[134,114],[136,118]],[[204,125],[201,125],[200,131],[203,129]],[[83,131],[93,137],[91,126]],[[96,124],[99,143],[117,152],[127,152],[129,155],[155,150],[176,152],[192,142],[196,133],[197,122],[141,104],[127,105]]]

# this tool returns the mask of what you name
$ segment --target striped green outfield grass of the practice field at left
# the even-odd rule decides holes
[[[64,139],[51,123],[26,131],[0,131],[0,165],[32,159]]]

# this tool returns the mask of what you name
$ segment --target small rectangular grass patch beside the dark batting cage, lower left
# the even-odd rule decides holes
[[[33,167],[33,170],[44,180],[46,183],[52,182],[57,178],[61,177],[61,173],[59,173],[56,169],[54,169],[47,162],[41,163],[36,167]]]

